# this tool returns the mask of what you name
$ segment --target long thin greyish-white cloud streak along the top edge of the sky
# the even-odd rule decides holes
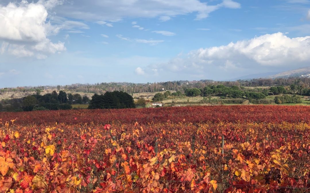
[[[202,0],[74,0],[58,7],[57,14],[66,18],[87,21],[120,21],[123,18],[156,18],[167,20],[168,17],[194,13],[197,19],[204,19],[220,8],[240,8],[240,4],[232,0],[202,2]],[[135,25],[135,24],[133,24]]]

